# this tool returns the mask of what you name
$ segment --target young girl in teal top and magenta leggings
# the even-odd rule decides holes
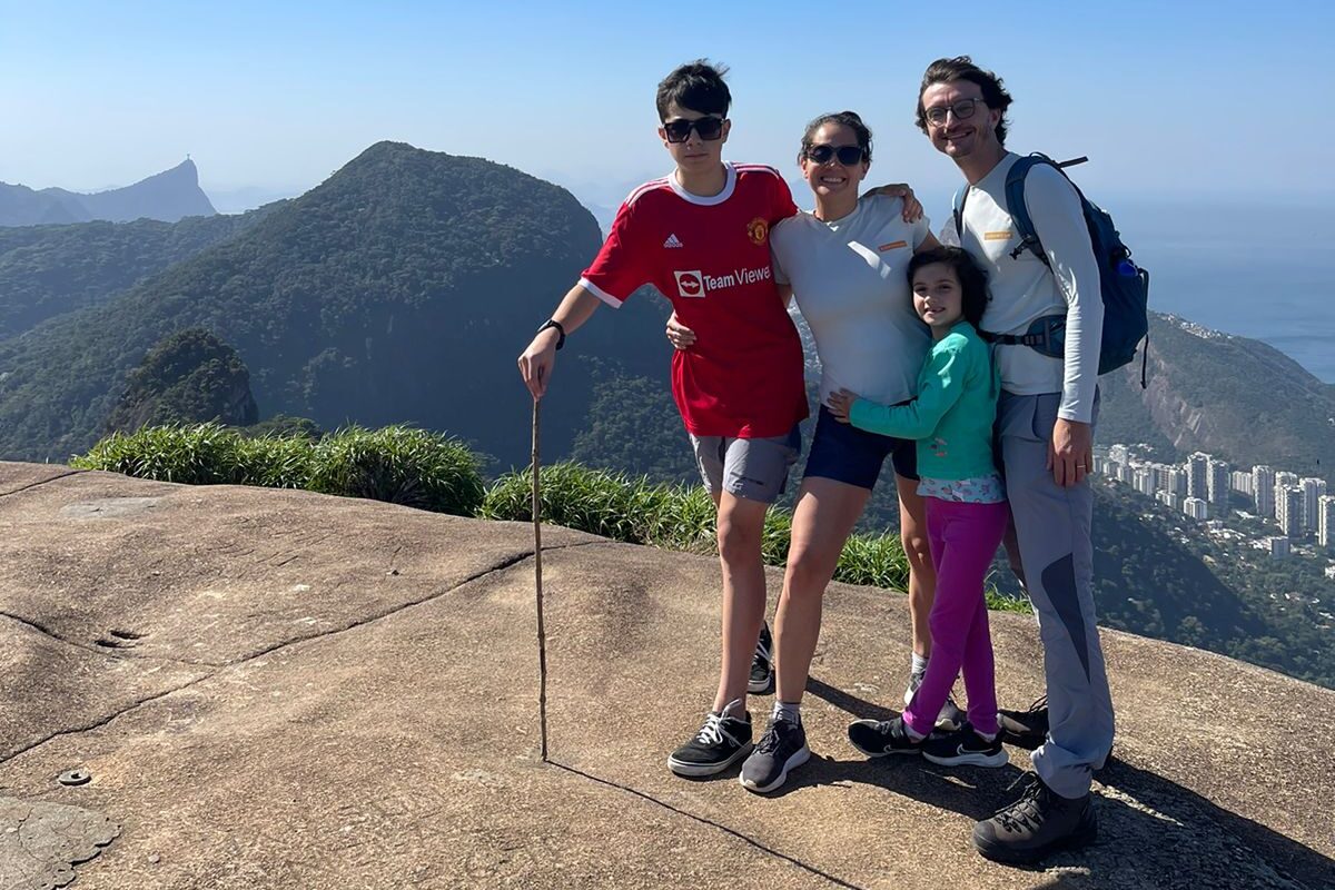
[[[864,754],[921,753],[934,763],[1003,766],[992,638],[983,580],[1007,526],[1005,492],[992,460],[992,424],[1000,380],[989,347],[975,326],[987,307],[987,279],[957,247],[914,254],[908,278],[913,308],[932,330],[932,352],[908,404],[884,406],[848,390],[829,396],[842,423],[881,435],[917,439],[918,494],[936,566],[932,658],[902,717],[857,721],[849,741]],[[969,721],[928,738],[956,675],[964,670]]]

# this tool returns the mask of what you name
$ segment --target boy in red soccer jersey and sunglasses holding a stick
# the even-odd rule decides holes
[[[774,168],[722,161],[732,127],[724,73],[701,60],[658,84],[658,137],[677,169],[630,192],[593,264],[519,356],[523,382],[542,398],[566,336],[599,303],[619,307],[643,284],[697,332],[693,350],[673,354],[672,390],[718,508],[722,670],[700,731],[668,758],[678,775],[720,773],[752,750],[746,691],[765,615],[761,534],[806,416],[802,344],[769,255],[770,227],[797,207]]]

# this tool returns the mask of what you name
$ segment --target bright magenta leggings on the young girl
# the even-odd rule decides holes
[[[936,600],[928,619],[932,658],[926,677],[904,709],[904,722],[920,735],[936,726],[937,714],[964,670],[969,723],[984,735],[1000,730],[992,664],[992,635],[983,580],[1005,532],[1004,503],[959,503],[926,498],[926,532],[936,566]]]

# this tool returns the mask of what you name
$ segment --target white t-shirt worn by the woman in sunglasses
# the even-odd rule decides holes
[[[804,212],[770,231],[774,278],[793,286],[816,338],[822,403],[841,388],[881,404],[916,392],[932,334],[913,311],[905,270],[930,227],[902,213],[902,199],[873,195],[842,219]]]

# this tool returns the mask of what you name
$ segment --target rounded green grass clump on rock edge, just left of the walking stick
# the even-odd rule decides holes
[[[485,494],[466,444],[407,426],[354,426],[324,436],[315,444],[306,487],[457,516],[477,514]]]

